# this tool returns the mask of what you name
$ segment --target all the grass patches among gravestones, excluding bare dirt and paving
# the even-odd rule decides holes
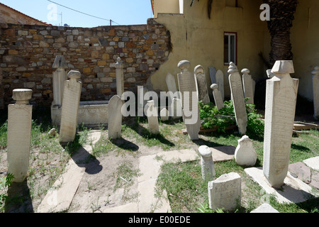
[[[13,202],[18,204],[26,204],[27,201],[41,199],[45,196],[47,189],[52,186],[65,169],[70,156],[82,145],[89,143],[87,137],[90,129],[79,126],[74,142],[62,147],[58,135],[50,138],[47,134],[55,126],[47,123],[44,117],[43,119],[41,121],[34,116],[31,131],[30,168],[26,185],[29,198],[13,197]],[[122,138],[118,140],[109,140],[106,136],[107,130],[101,128],[101,139],[94,146],[90,157],[102,157],[111,152],[118,153],[118,155],[140,155],[141,146],[150,149],[159,148],[165,151],[196,149],[200,145],[208,145],[209,147],[233,145],[236,147],[237,140],[241,138],[237,131],[226,131],[225,133],[203,134],[200,135],[200,140],[191,141],[187,135],[181,133],[181,130],[185,128],[181,120],[159,122],[159,128],[160,134],[152,135],[147,128],[146,118],[128,118],[123,121]],[[6,131],[7,123],[3,121],[0,126],[0,161],[2,155],[6,153]],[[263,162],[263,140],[261,137],[259,135],[252,138],[257,152],[255,167],[261,167]],[[294,135],[290,162],[301,162],[310,157],[318,156],[318,138],[319,131],[306,131]],[[237,172],[242,177],[242,181],[245,182],[245,188],[242,189],[242,204],[236,210],[238,213],[250,212],[264,201],[269,202],[282,213],[312,213],[319,210],[318,199],[312,199],[301,204],[278,204],[271,195],[267,195],[258,184],[245,174],[245,167],[237,165],[235,160],[216,162],[215,170],[216,177],[229,172]],[[140,172],[133,167],[132,162],[121,162],[116,167],[113,175],[116,177],[116,184],[113,189],[124,188],[128,190],[133,185],[133,179],[138,177]],[[87,187],[93,190],[96,185],[87,182]],[[179,162],[177,164],[165,162],[157,180],[156,192],[159,195],[162,194],[163,190],[167,192],[173,212],[211,212],[207,209],[207,184],[201,179],[201,165],[198,161]],[[129,195],[124,193],[124,196]],[[128,197],[127,199],[134,198]],[[96,206],[94,206],[95,208]],[[220,212],[220,210],[213,212]]]

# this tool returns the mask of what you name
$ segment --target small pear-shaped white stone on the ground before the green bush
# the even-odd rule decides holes
[[[254,166],[257,161],[257,153],[252,145],[252,140],[244,135],[238,140],[238,146],[235,150],[235,161],[238,165]]]

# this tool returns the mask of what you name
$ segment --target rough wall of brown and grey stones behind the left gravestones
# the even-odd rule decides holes
[[[0,92],[5,106],[18,88],[33,89],[32,104],[50,106],[52,64],[56,55],[63,55],[67,70],[82,73],[81,101],[109,100],[116,94],[117,57],[124,64],[125,91],[136,93],[167,61],[170,47],[169,32],[152,18],[147,25],[98,28],[2,24]]]

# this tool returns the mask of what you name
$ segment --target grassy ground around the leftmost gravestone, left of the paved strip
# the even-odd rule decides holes
[[[6,150],[6,131],[8,123],[5,121],[0,127],[0,161]],[[52,187],[69,161],[69,158],[87,142],[89,130],[84,126],[77,128],[74,142],[62,147],[59,136],[51,138],[48,132],[51,126],[47,122],[40,123],[33,119],[31,124],[30,159],[26,184],[21,186],[22,194],[14,194],[0,204],[0,210],[9,209],[10,206],[21,206],[23,212],[29,212],[32,207],[27,207],[30,200],[41,199]],[[27,198],[27,199],[26,199]]]

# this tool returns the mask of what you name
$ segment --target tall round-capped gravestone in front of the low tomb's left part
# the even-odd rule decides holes
[[[82,82],[78,81],[81,78],[80,72],[70,71],[67,76],[69,80],[65,81],[60,124],[61,143],[74,141],[77,133],[77,118],[82,89]]]

